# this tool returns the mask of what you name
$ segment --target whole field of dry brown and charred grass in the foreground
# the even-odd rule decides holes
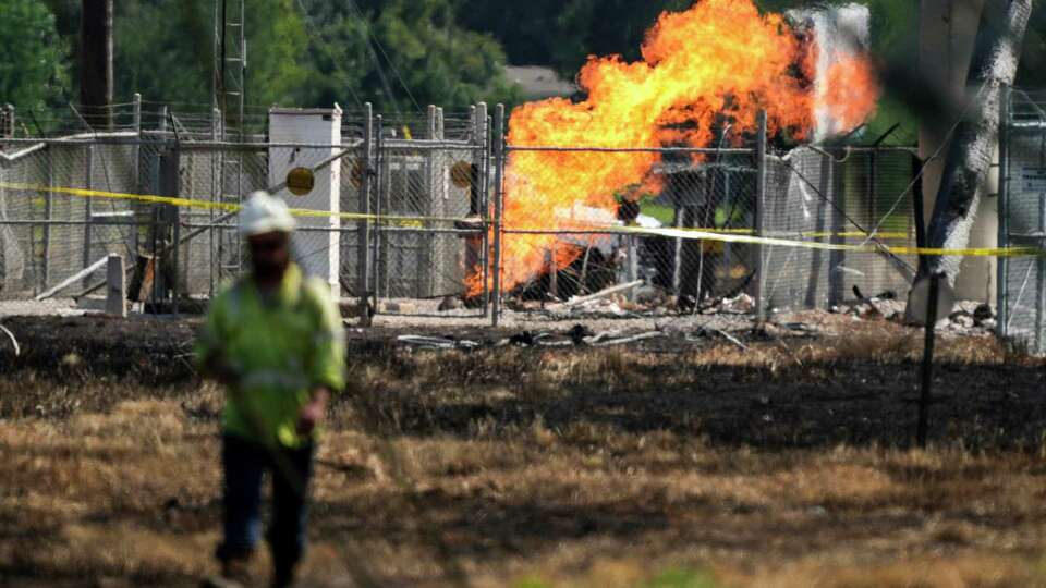
[[[195,586],[222,395],[192,373],[192,324],[4,324],[23,354],[0,355],[0,578]],[[922,451],[919,331],[778,331],[457,333],[469,352],[352,333],[302,585],[1046,585],[1041,362],[945,338]]]

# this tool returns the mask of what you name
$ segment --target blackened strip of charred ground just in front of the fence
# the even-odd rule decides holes
[[[366,404],[400,432],[423,436],[469,434],[477,426],[518,430],[542,420],[757,446],[905,445],[922,330],[869,313],[854,306],[685,330],[349,328],[360,389],[348,402]],[[19,356],[0,347],[0,373],[10,385],[39,379],[66,390],[58,404],[28,392],[47,396],[44,385],[7,394],[4,417],[106,409],[121,394],[76,392],[106,382],[120,382],[131,395],[153,387],[166,397],[191,397],[198,388],[192,364],[198,319],[9,317],[2,323],[22,345]],[[1037,446],[1046,428],[1042,363],[976,329],[949,327],[941,335],[934,439]],[[507,392],[491,395],[490,387]],[[217,414],[186,409],[200,418]]]

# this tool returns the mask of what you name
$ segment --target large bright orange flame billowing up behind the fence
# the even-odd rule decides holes
[[[577,81],[587,98],[551,98],[516,108],[509,144],[600,148],[705,147],[730,124],[728,140],[755,133],[759,110],[771,135],[804,138],[815,106],[827,107],[834,127],[864,122],[878,98],[865,54],[837,59],[815,88],[817,47],[780,14],[759,14],[752,0],[700,0],[685,12],[660,15],[647,32],[643,61],[589,57]],[[650,192],[656,152],[512,151],[504,177],[507,230],[575,230],[576,205],[615,211],[622,194]],[[552,235],[508,234],[506,289],[546,266]],[[557,248],[558,267],[573,260]],[[482,289],[479,272],[470,294]]]

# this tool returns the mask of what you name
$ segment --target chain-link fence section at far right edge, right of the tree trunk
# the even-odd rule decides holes
[[[999,142],[999,246],[1046,245],[1046,93],[1010,90]],[[1046,353],[1046,257],[999,258],[999,332]]]

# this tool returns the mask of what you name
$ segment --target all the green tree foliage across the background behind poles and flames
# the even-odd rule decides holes
[[[572,77],[589,54],[638,59],[649,26],[693,0],[250,0],[246,100],[385,111],[427,103],[463,108],[520,100],[502,68],[550,65]],[[756,0],[784,11],[808,0]],[[850,0],[823,0],[830,3]],[[1035,0],[1018,84],[1046,85],[1046,0]],[[864,0],[873,50],[911,62],[916,0]],[[81,0],[0,0],[0,100],[60,102],[75,96]],[[210,102],[214,1],[115,2],[115,96]],[[50,10],[48,10],[50,9]],[[27,34],[28,32],[28,34]],[[902,122],[895,138],[914,139],[915,122],[890,88],[867,135]]]

